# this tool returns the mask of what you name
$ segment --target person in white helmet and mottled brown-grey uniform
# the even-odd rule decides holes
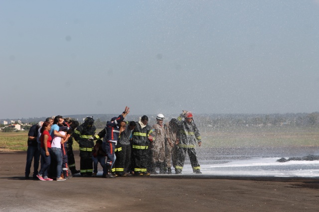
[[[156,116],[157,123],[153,125],[153,142],[152,147],[152,168],[150,170],[151,174],[157,174],[155,168],[160,167],[160,174],[166,173],[165,165],[165,138],[166,133],[163,125],[163,120],[165,119],[163,114],[158,114]]]

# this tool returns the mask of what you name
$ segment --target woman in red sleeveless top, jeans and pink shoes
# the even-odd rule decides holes
[[[37,175],[40,180],[52,181],[51,178],[48,178],[48,169],[51,163],[50,149],[52,137],[49,133],[51,129],[51,124],[48,121],[44,121],[41,132],[41,169]]]

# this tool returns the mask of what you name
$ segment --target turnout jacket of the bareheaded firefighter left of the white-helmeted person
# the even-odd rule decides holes
[[[136,127],[132,132],[133,149],[148,149],[150,145],[148,137],[152,132],[149,124],[142,128],[139,121],[136,121]]]

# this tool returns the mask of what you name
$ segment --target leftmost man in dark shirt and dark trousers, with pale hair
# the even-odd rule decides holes
[[[28,133],[28,149],[26,152],[26,165],[25,165],[25,179],[29,179],[32,159],[33,162],[33,179],[37,179],[36,175],[38,174],[39,160],[40,160],[40,151],[38,149],[38,144],[36,138],[38,136],[38,129],[42,126],[43,121],[40,121],[37,124],[34,124],[29,129]]]

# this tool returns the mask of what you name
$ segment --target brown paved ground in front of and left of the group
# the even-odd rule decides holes
[[[1,212],[319,211],[319,178],[194,174],[47,182],[24,180],[25,158],[26,152],[0,152]]]

